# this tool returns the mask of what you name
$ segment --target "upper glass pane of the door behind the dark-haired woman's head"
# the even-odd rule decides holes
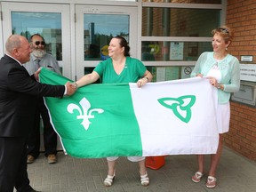
[[[108,59],[108,44],[114,36],[129,42],[129,19],[129,15],[84,14],[84,60]]]

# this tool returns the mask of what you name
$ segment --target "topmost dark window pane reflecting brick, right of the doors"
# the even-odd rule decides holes
[[[212,36],[212,28],[218,26],[220,10],[142,9],[142,36]]]

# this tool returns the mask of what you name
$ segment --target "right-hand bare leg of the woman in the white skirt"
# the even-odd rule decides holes
[[[221,156],[221,152],[222,152],[222,148],[223,148],[222,140],[223,140],[223,136],[222,136],[222,134],[220,134],[219,146],[217,149],[217,153],[211,155],[211,166],[210,166],[210,170],[209,170],[209,176],[212,176],[212,177],[215,177],[217,166],[220,162],[220,156]]]

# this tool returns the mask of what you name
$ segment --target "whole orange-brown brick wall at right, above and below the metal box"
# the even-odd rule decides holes
[[[256,1],[228,0],[226,23],[235,31],[228,52],[238,60],[252,55],[250,64],[256,64]],[[230,128],[224,137],[228,148],[256,161],[256,108],[231,102]]]

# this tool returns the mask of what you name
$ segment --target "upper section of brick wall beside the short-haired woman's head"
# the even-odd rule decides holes
[[[256,1],[228,0],[226,23],[235,31],[229,52],[239,60],[241,55],[253,55],[256,63]]]

